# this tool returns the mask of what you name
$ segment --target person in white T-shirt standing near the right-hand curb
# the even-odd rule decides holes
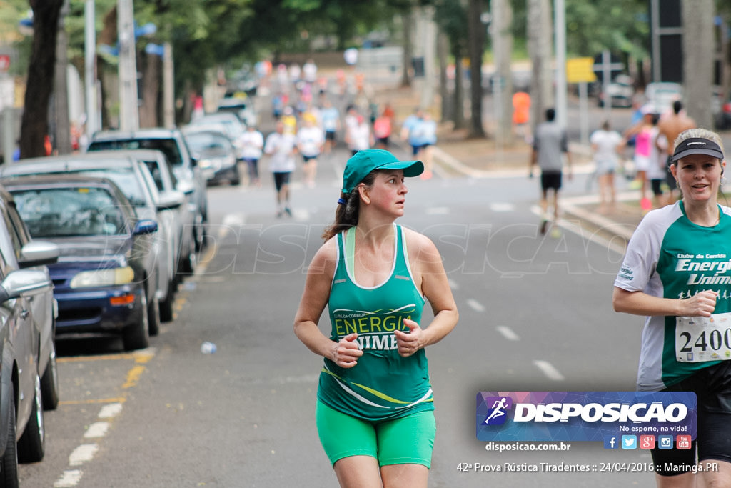
[[[624,150],[624,138],[604,121],[602,128],[591,133],[589,138],[594,150],[596,178],[599,181],[599,213],[613,211],[616,203],[614,175],[619,166],[619,155]]]

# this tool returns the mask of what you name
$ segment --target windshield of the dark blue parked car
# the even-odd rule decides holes
[[[124,213],[104,188],[19,189],[12,191],[12,195],[34,238],[114,236],[127,232]]]

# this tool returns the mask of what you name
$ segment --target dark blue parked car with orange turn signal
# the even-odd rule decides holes
[[[109,179],[46,174],[4,182],[31,236],[61,251],[49,266],[56,335],[118,334],[126,350],[146,348],[157,223],[140,219]]]

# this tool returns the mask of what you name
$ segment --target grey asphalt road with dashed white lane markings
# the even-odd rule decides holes
[[[295,173],[289,219],[275,217],[265,162],[262,188],[210,189],[211,246],[151,348],[59,344],[61,405],[46,415],[46,459],[21,466],[22,486],[337,486],[314,425],[322,359],[298,341],[292,320],[346,156],[341,149],[321,161],[314,189]],[[581,178],[567,184],[567,196],[583,192]],[[401,224],[436,243],[461,312],[455,331],[427,350],[438,424],[430,486],[652,484],[651,473],[459,470],[650,459],[599,443],[496,454],[475,437],[479,391],[634,389],[642,320],[610,304],[621,255],[572,222],[541,236],[537,184],[409,181]],[[204,341],[216,353],[202,354]]]

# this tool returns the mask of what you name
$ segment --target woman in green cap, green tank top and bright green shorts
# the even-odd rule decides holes
[[[295,334],[323,356],[320,440],[341,487],[426,487],[435,423],[424,348],[458,320],[433,242],[395,225],[420,161],[382,149],[347,162],[336,220],[314,256]],[[421,326],[425,301],[434,318]],[[318,328],[325,306],[330,334]]]

